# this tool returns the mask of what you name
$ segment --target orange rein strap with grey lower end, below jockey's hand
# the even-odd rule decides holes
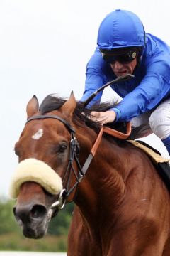
[[[118,139],[127,139],[130,136],[131,133],[131,124],[130,122],[127,123],[127,132],[124,134],[123,132],[118,132],[115,129],[111,129],[109,127],[101,127],[101,130],[98,134],[98,137],[96,139],[96,142],[94,143],[94,146],[91,149],[91,153],[89,154],[88,158],[86,159],[84,166],[82,167],[82,173],[85,175],[87,169],[89,168],[89,165],[91,163],[91,160],[94,158],[96,151],[98,149],[99,144],[101,143],[101,138],[103,136],[103,132],[106,132],[106,134],[110,134],[113,137],[116,137]]]

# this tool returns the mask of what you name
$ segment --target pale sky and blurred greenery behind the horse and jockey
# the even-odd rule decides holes
[[[62,252],[67,250],[67,232],[73,205],[52,220],[41,240],[23,238],[13,218],[8,197],[11,176],[18,159],[14,144],[26,122],[26,105],[33,95],[41,102],[50,93],[77,100],[84,92],[86,63],[94,53],[98,26],[115,9],[135,12],[147,33],[170,45],[170,2],[113,0],[0,0],[0,250]],[[114,97],[107,88],[102,101]],[[162,142],[150,135],[144,139],[165,157]]]

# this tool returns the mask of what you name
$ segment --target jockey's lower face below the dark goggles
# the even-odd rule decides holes
[[[118,60],[115,60],[115,62],[111,63],[110,65],[117,77],[127,73],[132,74],[137,65],[137,58],[132,60],[130,63],[120,63]]]

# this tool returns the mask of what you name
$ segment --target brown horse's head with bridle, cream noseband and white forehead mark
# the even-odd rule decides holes
[[[45,234],[50,218],[66,198],[72,201],[79,183],[75,164],[79,146],[72,127],[76,105],[73,94],[58,110],[48,109],[47,100],[39,110],[35,96],[28,102],[28,120],[15,146],[19,164],[11,183],[11,196],[17,198],[14,215],[28,238]]]

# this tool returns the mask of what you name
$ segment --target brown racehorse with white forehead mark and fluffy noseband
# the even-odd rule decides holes
[[[28,102],[11,184],[23,234],[41,238],[74,201],[69,256],[169,256],[169,191],[149,157],[125,140],[104,134],[91,161],[101,127],[90,111],[74,95],[47,96],[40,109],[36,97]]]

